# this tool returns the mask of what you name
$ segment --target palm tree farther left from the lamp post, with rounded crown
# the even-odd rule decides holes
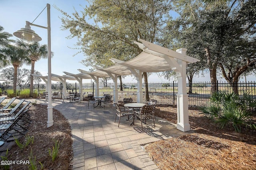
[[[5,65],[11,64],[14,67],[13,92],[16,95],[18,67],[22,66],[23,63],[30,63],[30,59],[24,49],[14,45],[7,45],[0,51],[1,55],[6,59]]]

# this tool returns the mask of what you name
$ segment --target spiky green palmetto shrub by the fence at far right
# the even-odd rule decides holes
[[[221,128],[232,125],[235,131],[241,132],[243,127],[256,129],[256,122],[251,119],[252,112],[248,109],[255,105],[256,101],[248,94],[244,93],[242,98],[239,98],[233,92],[223,91],[213,93],[208,106],[204,105],[199,109],[201,114],[220,123]]]

